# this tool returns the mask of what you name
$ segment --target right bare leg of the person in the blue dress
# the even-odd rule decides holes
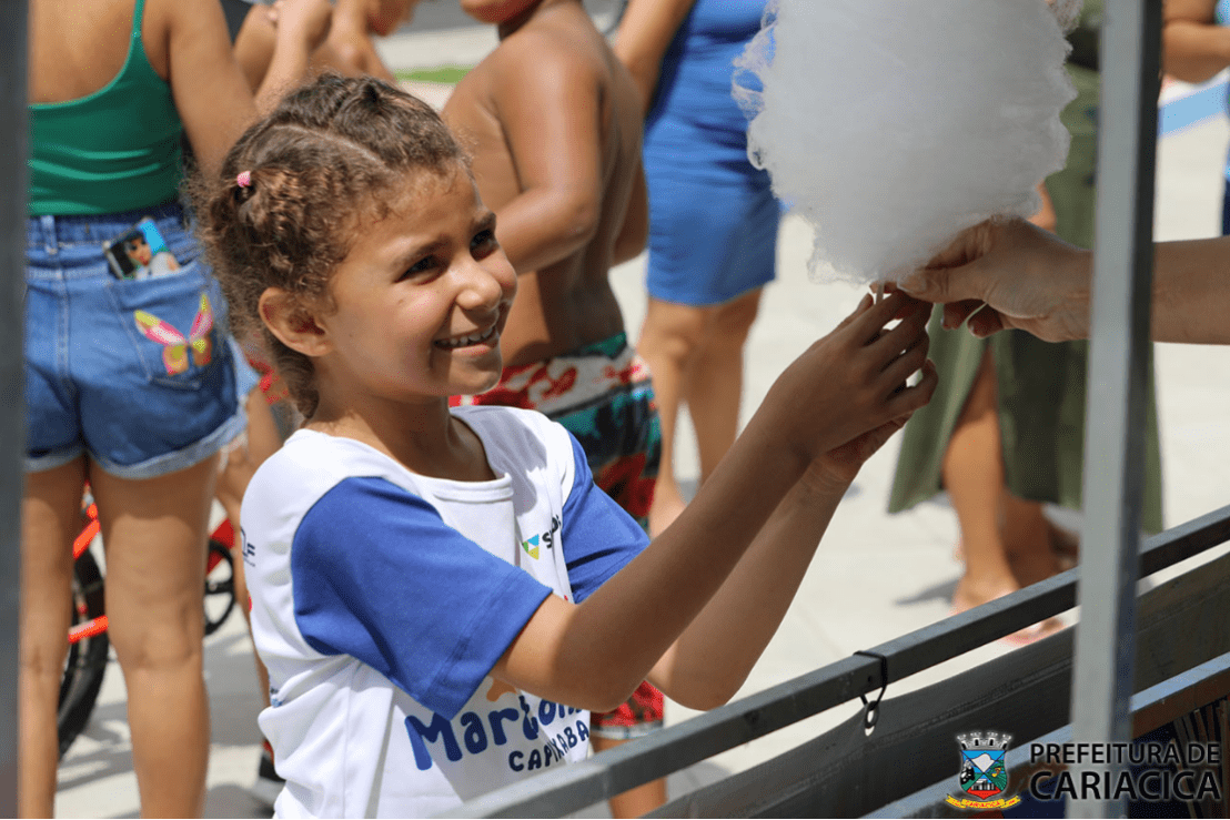
[[[700,450],[700,481],[712,475],[739,429],[743,345],[760,307],[761,289],[705,309],[705,333],[688,368],[686,402]]]

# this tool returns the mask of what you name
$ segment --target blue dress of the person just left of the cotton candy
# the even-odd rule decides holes
[[[774,278],[781,211],[748,161],[734,59],[760,31],[763,0],[697,0],[662,63],[645,128],[649,295],[716,305]]]

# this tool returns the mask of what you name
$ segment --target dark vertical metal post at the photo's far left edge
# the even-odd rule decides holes
[[[0,818],[17,816],[17,609],[26,452],[26,0],[0,2]]]

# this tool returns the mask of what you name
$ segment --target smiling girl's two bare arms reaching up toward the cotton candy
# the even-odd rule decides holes
[[[728,700],[776,631],[840,498],[827,481],[840,475],[830,451],[849,456],[839,449],[875,432],[855,445],[870,455],[934,390],[930,370],[900,390],[926,354],[927,311],[911,304],[865,300],[796,359],[679,519],[579,606],[544,601],[492,674],[599,711],[651,669],[684,704]],[[902,312],[905,321],[882,333]],[[626,628],[638,613],[653,617],[652,634]]]

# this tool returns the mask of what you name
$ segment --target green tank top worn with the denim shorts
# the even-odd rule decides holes
[[[30,106],[32,216],[138,210],[176,198],[183,125],[171,87],[141,44],[145,0],[137,0],[128,57],[91,95]]]

